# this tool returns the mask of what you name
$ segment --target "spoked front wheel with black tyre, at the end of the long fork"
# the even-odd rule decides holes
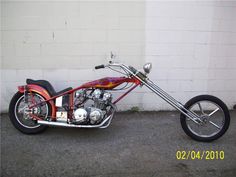
[[[196,124],[184,114],[180,115],[184,132],[197,141],[216,140],[229,128],[229,110],[219,98],[211,95],[196,96],[185,104],[185,108],[197,114],[201,119],[201,123]]]

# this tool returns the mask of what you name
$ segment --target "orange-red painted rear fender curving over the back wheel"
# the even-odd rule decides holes
[[[46,89],[44,89],[43,87],[40,87],[38,85],[35,85],[35,84],[28,84],[26,86],[19,86],[18,91],[20,93],[24,93],[26,87],[29,92],[38,93],[39,95],[43,96],[46,100],[51,98],[51,96],[49,95],[49,93]],[[52,117],[56,117],[56,107],[55,107],[54,101],[49,101],[49,104],[51,105],[51,108],[52,108]]]

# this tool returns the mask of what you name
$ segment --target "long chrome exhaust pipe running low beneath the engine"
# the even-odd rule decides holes
[[[63,123],[63,122],[49,122],[45,120],[38,120],[38,124],[48,125],[48,126],[59,126],[59,127],[74,127],[74,128],[100,128],[112,117],[113,117],[113,114],[108,116],[104,121],[102,121],[98,125],[76,125],[76,124],[68,124],[68,123]]]

